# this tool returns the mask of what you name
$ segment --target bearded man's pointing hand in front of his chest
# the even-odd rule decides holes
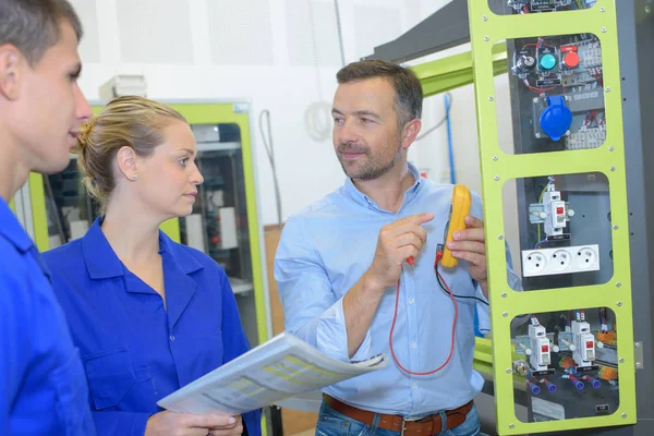
[[[372,288],[386,289],[399,280],[402,263],[416,257],[427,242],[427,232],[421,225],[432,219],[432,213],[412,215],[379,230],[373,264],[364,275]]]

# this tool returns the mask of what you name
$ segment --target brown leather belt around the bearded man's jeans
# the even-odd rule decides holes
[[[331,409],[338,413],[343,414],[352,420],[362,422],[367,425],[373,425],[375,419],[375,412],[367,410],[356,409],[353,405],[346,404],[342,401],[337,400],[334,397],[329,397],[324,393],[323,399]],[[460,408],[448,410],[445,412],[447,420],[445,429],[458,427],[465,421],[465,415],[472,410],[472,400]],[[437,435],[443,431],[443,421],[440,414],[435,413],[433,415],[424,416],[417,421],[404,420],[400,415],[387,415],[382,413],[379,416],[379,428],[388,429],[391,432],[400,432],[403,436],[429,436]]]

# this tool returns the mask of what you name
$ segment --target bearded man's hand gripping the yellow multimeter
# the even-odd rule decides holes
[[[452,256],[468,261],[470,276],[482,287],[488,298],[488,272],[486,270],[486,244],[484,242],[484,221],[473,216],[465,217],[465,229],[455,232],[455,239],[447,244]]]

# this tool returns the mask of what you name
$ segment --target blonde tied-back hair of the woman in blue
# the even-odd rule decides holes
[[[125,96],[111,100],[90,119],[77,136],[77,168],[86,191],[96,197],[102,213],[116,187],[113,159],[122,147],[140,157],[150,157],[165,141],[164,129],[171,121],[187,123],[177,110],[143,97]]]

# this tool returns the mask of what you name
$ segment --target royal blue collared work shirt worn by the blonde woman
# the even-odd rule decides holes
[[[250,349],[227,275],[159,232],[161,296],[125,268],[98,218],[84,238],[44,254],[81,349],[100,435],[143,435],[157,401]],[[261,435],[261,411],[245,413]]]

